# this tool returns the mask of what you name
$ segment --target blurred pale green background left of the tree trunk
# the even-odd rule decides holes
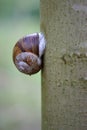
[[[40,31],[39,0],[0,0],[0,130],[41,129],[41,77],[15,68],[16,41]]]

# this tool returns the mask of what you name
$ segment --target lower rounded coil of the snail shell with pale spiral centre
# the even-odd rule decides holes
[[[20,72],[31,75],[41,69],[41,59],[31,52],[22,52],[16,56],[15,65]]]

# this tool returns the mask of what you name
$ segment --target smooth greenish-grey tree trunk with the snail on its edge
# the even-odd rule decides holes
[[[41,31],[42,130],[87,130],[87,0],[41,0]]]

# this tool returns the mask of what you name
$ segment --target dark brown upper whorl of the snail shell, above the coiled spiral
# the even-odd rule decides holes
[[[29,35],[20,39],[13,49],[13,61],[21,52],[31,52],[39,56],[39,34]]]

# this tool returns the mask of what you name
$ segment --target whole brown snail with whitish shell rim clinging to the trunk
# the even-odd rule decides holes
[[[34,33],[18,40],[13,48],[13,62],[25,74],[35,74],[42,68],[46,40],[44,34]]]

